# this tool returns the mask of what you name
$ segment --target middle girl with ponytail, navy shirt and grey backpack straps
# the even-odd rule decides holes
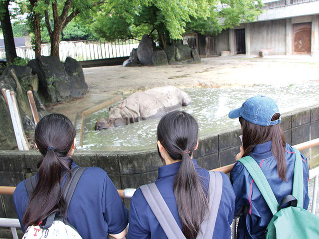
[[[164,166],[155,182],[174,220],[186,239],[195,239],[209,213],[209,172],[192,158],[198,147],[198,125],[189,114],[173,111],[158,125],[158,151]],[[230,238],[235,195],[227,175],[222,174],[222,196],[214,239]],[[212,196],[212,195],[210,195]],[[167,238],[141,189],[131,199],[128,239]]]

